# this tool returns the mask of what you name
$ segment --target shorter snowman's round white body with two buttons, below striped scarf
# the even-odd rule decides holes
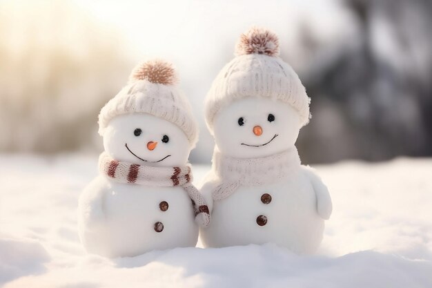
[[[179,186],[122,184],[100,175],[84,190],[79,207],[80,238],[92,253],[136,256],[197,244],[193,206]]]

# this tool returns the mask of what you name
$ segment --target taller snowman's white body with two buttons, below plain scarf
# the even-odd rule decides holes
[[[322,240],[324,220],[317,213],[317,197],[308,173],[304,166],[298,166],[282,181],[240,186],[227,198],[215,200],[212,223],[200,231],[204,245],[272,242],[297,253],[316,251]],[[211,192],[204,186],[206,199]]]

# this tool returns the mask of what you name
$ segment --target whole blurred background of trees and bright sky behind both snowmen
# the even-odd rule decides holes
[[[253,25],[312,98],[304,163],[432,155],[430,0],[0,0],[0,153],[100,153],[100,108],[164,57],[199,119],[190,160],[209,163],[204,97]]]

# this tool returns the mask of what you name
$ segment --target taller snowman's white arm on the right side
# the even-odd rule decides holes
[[[321,178],[315,173],[315,170],[310,166],[302,166],[306,177],[311,181],[313,190],[317,197],[317,212],[318,215],[324,220],[328,220],[333,210],[333,204],[331,203],[330,193],[326,185],[322,182]]]

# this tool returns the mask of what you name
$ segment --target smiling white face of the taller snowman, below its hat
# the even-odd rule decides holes
[[[236,100],[217,113],[214,136],[221,153],[255,158],[291,148],[300,128],[300,116],[289,104],[248,97]]]

